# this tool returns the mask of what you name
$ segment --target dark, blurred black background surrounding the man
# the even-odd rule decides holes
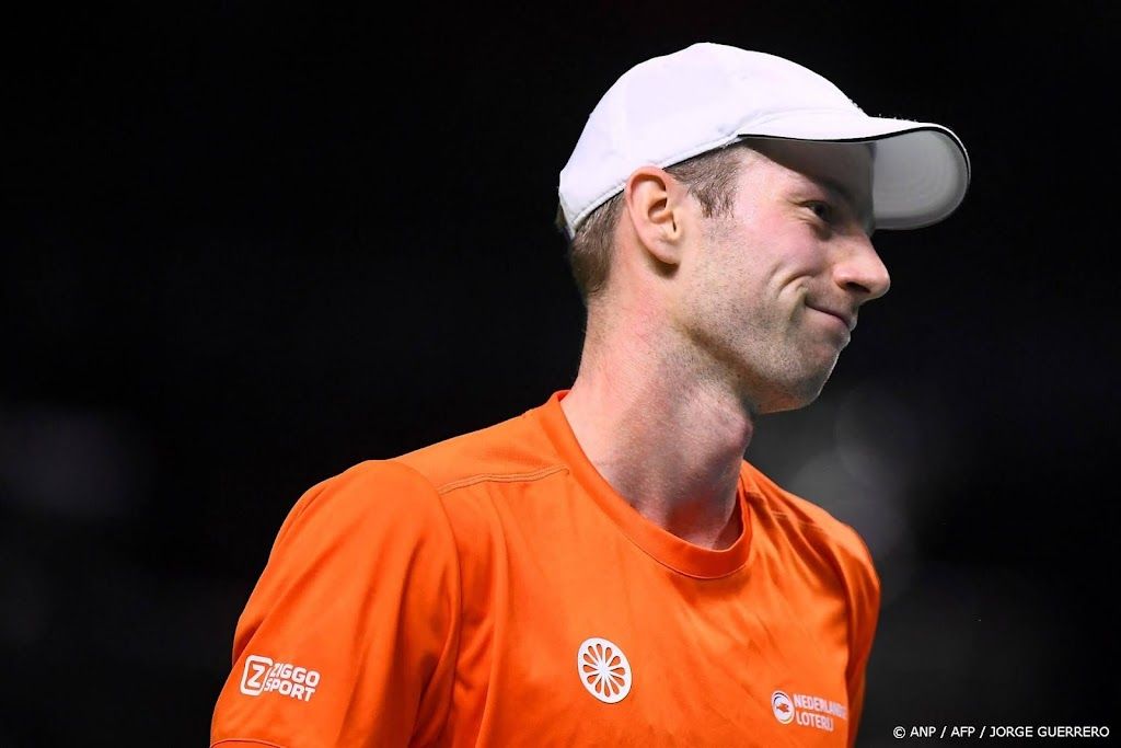
[[[3,25],[0,745],[205,745],[309,486],[571,385],[552,225],[602,92],[770,52],[973,159],[748,458],[884,584],[861,745],[1117,721],[1111,3],[43,6]]]

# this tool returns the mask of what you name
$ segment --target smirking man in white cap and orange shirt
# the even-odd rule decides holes
[[[624,74],[560,173],[587,305],[537,408],[311,489],[213,744],[844,746],[879,608],[856,534],[743,460],[948,215],[948,130],[700,44]]]

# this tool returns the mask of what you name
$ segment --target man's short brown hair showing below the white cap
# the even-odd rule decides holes
[[[700,156],[675,164],[666,169],[675,179],[685,185],[688,193],[701,204],[705,218],[724,216],[731,213],[735,201],[735,179],[740,173],[739,149],[753,150],[743,141],[724,148],[710,150]],[[568,241],[568,267],[586,307],[595,299],[608,283],[611,270],[611,255],[615,227],[622,212],[623,194],[618,195],[595,209]],[[557,228],[566,232],[564,210],[557,210]]]

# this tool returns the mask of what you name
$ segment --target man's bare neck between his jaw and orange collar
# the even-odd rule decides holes
[[[581,447],[648,520],[694,545],[730,546],[742,532],[736,488],[750,414],[730,388],[679,362],[649,351],[620,359],[585,359],[560,400]]]

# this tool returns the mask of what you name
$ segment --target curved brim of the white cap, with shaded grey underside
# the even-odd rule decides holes
[[[920,229],[965,198],[970,158],[949,129],[930,122],[830,112],[796,112],[754,123],[740,137],[876,142],[872,212],[877,229]]]

